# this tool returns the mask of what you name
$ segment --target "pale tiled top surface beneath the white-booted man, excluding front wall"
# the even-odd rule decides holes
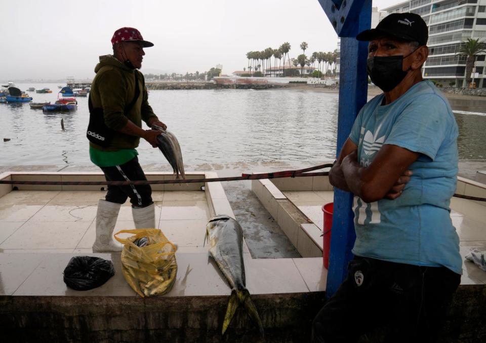
[[[81,178],[99,177],[92,174]],[[215,173],[198,175],[216,177]],[[32,179],[27,173],[12,177]],[[34,175],[34,179],[42,177],[50,180],[66,178],[57,173]],[[148,177],[155,176],[149,174]],[[208,246],[203,246],[206,224],[211,216],[228,214],[234,217],[224,190],[218,182],[206,183],[204,190],[198,190],[198,184],[193,184],[192,189],[186,184],[182,185],[184,190],[174,190],[177,186],[152,187],[163,189],[153,190],[152,194],[156,226],[178,247],[177,282],[168,296],[226,296],[230,289],[217,266],[208,258]],[[43,190],[4,190],[5,194],[0,197],[0,294],[137,296],[121,274],[119,253],[92,253],[97,203],[104,198],[105,191],[32,187],[42,187]],[[135,228],[132,209],[127,202],[120,209],[115,232],[132,228]],[[74,255],[110,259],[117,273],[105,285],[92,291],[70,290],[62,281],[62,271]],[[252,259],[245,243],[244,256],[247,286],[252,294],[325,290],[327,271],[322,267],[321,258]],[[264,281],[261,275],[266,276]]]

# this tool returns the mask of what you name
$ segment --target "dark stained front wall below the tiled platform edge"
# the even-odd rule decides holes
[[[238,309],[224,337],[228,296],[0,297],[4,342],[300,342],[310,340],[323,292],[252,296],[265,329],[260,337]]]

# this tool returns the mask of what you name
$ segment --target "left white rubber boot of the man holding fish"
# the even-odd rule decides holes
[[[96,212],[96,241],[93,252],[120,252],[121,244],[113,240],[113,230],[121,204],[98,201]]]

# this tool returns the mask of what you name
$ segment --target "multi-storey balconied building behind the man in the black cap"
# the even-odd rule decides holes
[[[408,5],[406,5],[408,4]],[[429,27],[429,58],[423,67],[424,79],[446,87],[469,87],[465,84],[466,56],[458,55],[468,38],[486,39],[486,0],[412,0],[383,9],[388,13],[417,13]],[[476,57],[473,81],[486,88],[484,59]]]

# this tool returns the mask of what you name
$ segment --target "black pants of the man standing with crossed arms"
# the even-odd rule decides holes
[[[380,327],[385,341],[433,342],[460,281],[445,267],[355,257],[315,317],[313,341],[355,342]]]

